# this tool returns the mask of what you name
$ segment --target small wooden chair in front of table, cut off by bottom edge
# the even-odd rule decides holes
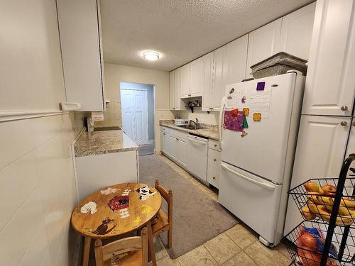
[[[97,266],[112,265],[148,265],[147,228],[141,230],[141,236],[133,236],[102,245],[101,239],[95,240],[95,260]]]

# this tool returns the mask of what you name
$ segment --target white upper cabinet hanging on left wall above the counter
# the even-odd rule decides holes
[[[97,0],[58,0],[67,101],[80,111],[104,111],[104,70]]]

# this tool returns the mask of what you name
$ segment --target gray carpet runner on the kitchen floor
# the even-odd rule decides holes
[[[173,248],[167,249],[174,259],[197,248],[234,226],[238,221],[222,205],[175,172],[156,155],[139,158],[140,182],[154,186],[155,179],[165,189],[173,190]],[[166,209],[166,206],[163,206]],[[167,234],[160,234],[166,247]]]

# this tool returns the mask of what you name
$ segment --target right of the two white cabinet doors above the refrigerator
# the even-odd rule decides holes
[[[314,2],[283,17],[280,38],[281,51],[308,60],[313,21],[315,20],[315,5]]]

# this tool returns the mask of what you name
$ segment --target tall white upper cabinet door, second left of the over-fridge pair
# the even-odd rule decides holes
[[[228,74],[228,57],[226,45],[214,50],[214,79],[212,89],[212,110],[219,111],[221,108],[222,96],[226,87]]]

